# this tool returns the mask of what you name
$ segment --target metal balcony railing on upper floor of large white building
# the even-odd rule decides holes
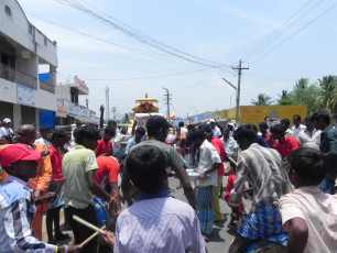
[[[7,79],[31,89],[37,89],[37,79],[0,63],[0,78]]]

